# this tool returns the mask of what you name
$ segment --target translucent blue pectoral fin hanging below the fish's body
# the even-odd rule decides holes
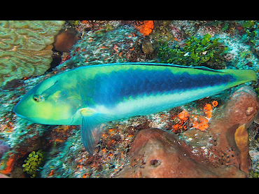
[[[94,153],[94,148],[97,145],[98,139],[101,136],[100,125],[106,122],[106,116],[97,113],[93,109],[85,109],[81,113],[81,136],[85,150],[91,155]]]

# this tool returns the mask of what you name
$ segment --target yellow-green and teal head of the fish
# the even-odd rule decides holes
[[[75,112],[70,93],[59,76],[53,76],[29,90],[13,111],[33,123],[69,125]]]

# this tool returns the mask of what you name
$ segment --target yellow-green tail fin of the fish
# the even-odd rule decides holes
[[[256,72],[253,70],[222,69],[220,71],[226,74],[230,74],[231,76],[234,76],[236,81],[233,82],[233,86],[239,85],[241,83],[246,83],[249,81],[257,81]]]

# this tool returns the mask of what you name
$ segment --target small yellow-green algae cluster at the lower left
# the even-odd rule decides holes
[[[25,164],[22,165],[23,171],[27,174],[31,174],[31,178],[36,176],[36,172],[39,170],[41,162],[43,161],[43,151],[39,150],[37,152],[32,151],[29,153]]]

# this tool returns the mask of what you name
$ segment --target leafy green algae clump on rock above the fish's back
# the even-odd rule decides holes
[[[191,36],[183,48],[180,46],[169,48],[168,43],[164,42],[160,44],[158,59],[162,63],[223,69],[225,67],[223,55],[228,47],[218,41],[219,38],[211,39],[210,34],[205,34],[202,37]]]

